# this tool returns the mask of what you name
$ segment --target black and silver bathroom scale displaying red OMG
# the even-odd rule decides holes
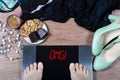
[[[91,46],[24,46],[22,77],[26,66],[34,62],[44,65],[42,80],[71,80],[71,62],[86,66],[93,80]]]

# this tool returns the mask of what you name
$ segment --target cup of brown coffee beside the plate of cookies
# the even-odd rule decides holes
[[[21,19],[20,19],[20,16],[18,15],[10,15],[8,18],[7,18],[7,25],[10,29],[17,29],[19,28],[21,24]]]

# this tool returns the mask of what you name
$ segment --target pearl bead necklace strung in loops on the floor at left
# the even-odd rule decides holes
[[[22,41],[19,32],[8,29],[7,25],[0,21],[0,55],[9,60],[22,58]]]

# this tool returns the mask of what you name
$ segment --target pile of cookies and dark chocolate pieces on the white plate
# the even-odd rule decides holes
[[[43,28],[43,22],[38,19],[26,21],[20,28],[23,37],[29,37],[31,42],[44,39],[48,34]]]

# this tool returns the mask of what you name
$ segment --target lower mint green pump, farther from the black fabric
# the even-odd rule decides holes
[[[107,44],[100,55],[95,57],[94,70],[100,71],[110,67],[120,57],[120,36]]]

